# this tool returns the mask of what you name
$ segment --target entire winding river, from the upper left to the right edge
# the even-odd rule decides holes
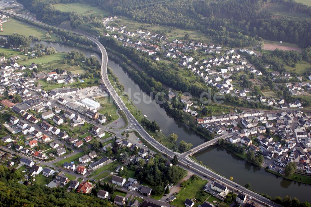
[[[87,57],[95,55],[99,60],[101,60],[101,56],[91,50],[76,48],[68,45],[34,41],[31,43],[31,46],[38,43],[54,47],[59,52],[70,52],[72,50],[76,50],[83,52]],[[138,97],[142,99],[143,91],[140,89],[139,85],[137,85],[114,61],[108,60],[108,65],[118,77],[120,83],[124,85],[124,91],[128,93],[129,89],[131,89],[130,93],[132,97],[135,92],[138,92],[138,94],[140,94]],[[147,101],[150,100],[150,96],[146,94],[145,99]],[[156,120],[165,135],[169,135],[171,133],[177,134],[178,142],[180,140],[185,140],[186,142],[191,142],[194,146],[200,145],[204,142],[202,136],[197,135],[191,129],[188,129],[183,122],[166,113],[165,109],[154,100],[152,100],[150,104],[145,104],[143,101],[135,103],[135,106],[151,121]],[[234,182],[239,183],[242,186],[244,186],[247,182],[250,182],[252,185],[251,188],[256,192],[265,193],[272,197],[284,197],[285,195],[290,195],[291,197],[298,198],[300,201],[311,202],[310,185],[288,181],[271,173],[267,173],[264,169],[255,167],[245,162],[243,159],[240,159],[236,155],[221,147],[209,147],[208,149],[195,154],[195,157],[215,172],[227,178],[232,176],[234,178]]]

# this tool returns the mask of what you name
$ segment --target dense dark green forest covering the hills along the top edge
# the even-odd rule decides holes
[[[270,4],[281,5],[295,14],[311,17],[311,8],[294,0],[18,0],[36,14],[38,20],[60,24],[69,20],[72,27],[98,34],[96,27],[101,15],[78,15],[61,12],[51,4],[84,2],[114,15],[128,16],[132,20],[172,27],[200,30],[212,40],[230,47],[256,45],[258,40],[268,39],[311,46],[311,20],[272,18]],[[51,21],[52,20],[52,21]],[[86,27],[87,25],[87,27]]]

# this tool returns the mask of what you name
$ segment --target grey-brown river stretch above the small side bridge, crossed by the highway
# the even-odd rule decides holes
[[[59,52],[70,52],[72,50],[76,50],[83,52],[87,57],[95,55],[99,60],[101,60],[101,57],[97,53],[83,48],[76,48],[58,43],[37,41],[33,41],[30,46],[33,47],[35,44],[51,46]],[[204,142],[204,138],[201,135],[193,132],[191,129],[188,129],[187,125],[185,125],[176,117],[171,116],[160,104],[157,104],[155,100],[151,99],[149,94],[144,93],[140,89],[139,85],[137,85],[117,63],[108,60],[108,66],[113,70],[114,75],[118,77],[119,82],[124,85],[124,92],[127,93],[129,97],[132,97],[136,108],[141,110],[142,114],[146,115],[147,118],[151,121],[155,120],[159,124],[160,129],[164,135],[168,136],[171,133],[177,134],[177,143],[179,143],[181,140],[184,140],[185,142],[191,142],[193,146],[200,145]],[[135,101],[138,99],[142,101]],[[148,104],[146,104],[146,102],[148,102]]]

